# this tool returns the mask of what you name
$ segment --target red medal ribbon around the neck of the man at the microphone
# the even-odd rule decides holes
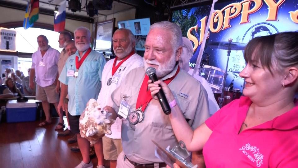
[[[180,71],[180,68],[178,66],[178,69],[175,73],[175,75],[173,77],[170,77],[166,80],[163,80],[163,82],[165,82],[167,85],[177,76],[178,72]],[[139,109],[140,106],[142,105],[142,111],[144,112],[148,103],[153,99],[151,96],[151,92],[150,90],[147,91],[148,88],[148,82],[149,77],[147,75],[145,75],[143,83],[141,85],[139,94],[138,94],[138,99],[137,99],[137,104],[136,104],[136,109]]]

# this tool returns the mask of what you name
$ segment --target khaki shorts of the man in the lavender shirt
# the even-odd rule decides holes
[[[52,84],[50,86],[41,87],[36,85],[36,100],[45,101],[49,103],[59,102],[59,94],[56,93],[56,85]]]

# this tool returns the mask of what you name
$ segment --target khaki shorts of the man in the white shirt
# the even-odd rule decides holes
[[[121,139],[112,139],[106,136],[102,137],[103,157],[108,161],[117,160],[122,152]]]

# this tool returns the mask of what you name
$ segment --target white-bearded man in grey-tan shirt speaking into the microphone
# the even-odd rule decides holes
[[[155,144],[151,140],[163,148],[178,145],[169,116],[147,91],[149,77],[145,71],[148,67],[155,68],[157,77],[168,83],[177,106],[183,109],[183,120],[193,129],[209,117],[205,89],[187,72],[180,71],[178,60],[181,53],[182,33],[176,24],[162,21],[151,25],[145,43],[145,67],[131,70],[104,108],[112,113],[113,119],[117,117],[120,103],[122,109],[129,110],[127,116],[123,115],[123,152],[118,156],[117,167],[165,167],[165,163],[155,156]],[[175,105],[175,102],[169,103]]]

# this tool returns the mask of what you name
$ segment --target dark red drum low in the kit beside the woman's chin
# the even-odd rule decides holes
[[[229,104],[231,101],[235,99],[239,99],[242,96],[242,92],[240,89],[228,89],[228,87],[224,88],[224,101],[223,106],[226,104]],[[219,98],[220,93],[216,94],[214,93],[215,100],[217,101],[217,104],[219,104]]]

